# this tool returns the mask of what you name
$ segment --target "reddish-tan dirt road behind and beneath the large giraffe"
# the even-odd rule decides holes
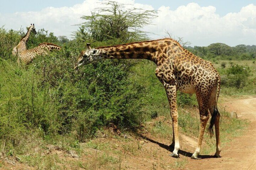
[[[250,120],[248,130],[222,147],[221,158],[190,160],[187,169],[256,169],[256,98],[235,100],[225,105],[228,110],[237,111],[241,119]]]

